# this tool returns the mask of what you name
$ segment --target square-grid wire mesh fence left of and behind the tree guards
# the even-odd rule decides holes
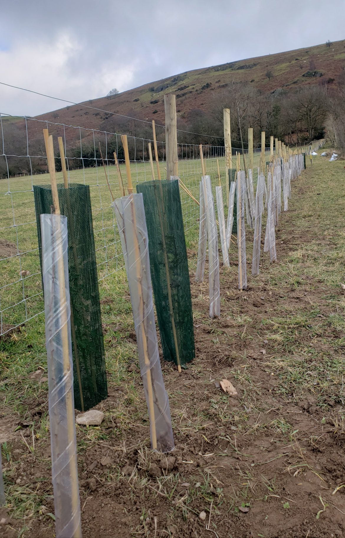
[[[44,302],[34,210],[33,186],[50,183],[42,130],[64,141],[69,182],[89,185],[96,246],[98,279],[103,281],[124,267],[112,197],[121,196],[115,166],[117,155],[124,183],[126,174],[121,136],[118,133],[80,126],[51,123],[36,118],[12,117],[0,113],[0,335],[43,312]],[[164,137],[164,131],[161,138]],[[133,182],[151,180],[148,144],[152,140],[128,136]],[[161,177],[165,178],[165,141],[157,140]],[[105,178],[101,152],[107,171]],[[178,144],[179,175],[196,199],[201,178],[198,145]],[[203,146],[206,173],[218,184],[217,159],[221,184],[226,193],[223,146]],[[60,155],[55,157],[61,170]],[[19,172],[19,174],[18,174]],[[62,182],[62,173],[57,174]],[[199,218],[197,204],[181,190],[185,231],[195,228]]]

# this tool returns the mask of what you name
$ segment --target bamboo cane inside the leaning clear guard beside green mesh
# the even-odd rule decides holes
[[[126,134],[123,134],[121,136],[122,144],[124,148],[124,156],[125,156],[125,162],[126,162],[126,171],[127,171],[127,182],[128,182],[128,193],[129,195],[133,195],[133,186],[132,186],[132,176],[131,176],[131,168],[130,168],[130,160],[129,160],[129,153],[128,153],[128,142],[127,142],[127,136]],[[140,274],[140,252],[139,252],[139,243],[136,236],[137,231],[137,219],[135,214],[135,206],[134,201],[132,204],[133,208],[133,243],[134,243],[134,251],[135,251],[135,258],[136,258],[136,276],[137,276],[137,294],[140,298],[142,298],[142,289],[141,289],[141,274]],[[144,305],[143,300],[141,299],[140,304],[142,305],[142,309],[144,311]],[[143,318],[143,312],[142,312],[142,318]],[[144,323],[140,323],[140,331],[142,336],[142,342],[143,342],[143,351],[144,351],[144,362],[145,366],[147,367],[146,371],[146,381],[147,381],[147,397],[149,399],[149,408],[150,408],[150,416],[152,419],[152,448],[153,450],[157,450],[157,433],[156,433],[156,420],[154,418],[154,406],[153,406],[153,389],[152,389],[152,378],[151,378],[151,369],[150,369],[150,359],[149,359],[149,351],[147,350],[147,338],[145,334],[145,327]]]

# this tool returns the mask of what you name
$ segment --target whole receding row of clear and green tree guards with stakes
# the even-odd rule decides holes
[[[202,177],[200,198],[195,199],[178,177],[177,118],[175,96],[166,95],[166,177],[161,179],[156,132],[153,146],[157,164],[155,178],[152,148],[149,145],[152,181],[137,185],[133,193],[127,137],[122,137],[128,195],[125,195],[121,170],[115,155],[121,198],[112,196],[129,282],[135,324],[140,372],[150,417],[151,448],[169,452],[174,448],[168,396],[161,372],[153,297],[165,360],[173,361],[178,371],[195,357],[193,313],[181,187],[200,208],[196,281],[205,272],[208,245],[209,315],[220,316],[220,230],[223,266],[229,266],[230,243],[238,246],[238,287],[247,288],[245,214],[254,228],[252,274],[259,272],[260,239],[264,209],[267,210],[264,250],[276,259],[275,226],[281,208],[291,196],[291,180],[304,167],[299,150],[291,151],[276,140],[271,143],[270,160],[265,162],[265,147],[258,171],[254,196],[252,153],[249,167],[245,158],[231,155],[230,114],[224,110],[224,138],[228,216],[225,221],[222,187],[216,186],[217,217],[210,176],[205,173],[200,148]],[[250,139],[250,138],[249,138]],[[44,130],[51,185],[35,186],[41,272],[45,301],[45,329],[48,363],[49,415],[52,447],[52,482],[55,526],[58,538],[81,536],[78,467],[74,408],[87,410],[107,397],[100,298],[89,187],[68,184],[64,146],[59,138],[64,184],[57,185],[53,138]],[[251,133],[252,140],[252,133]],[[103,160],[103,159],[102,159]],[[233,167],[235,162],[235,167]],[[104,163],[103,163],[104,164]],[[219,163],[217,162],[218,172]],[[267,179],[267,183],[266,183]],[[219,173],[220,183],[220,173]],[[0,483],[1,500],[1,483]]]

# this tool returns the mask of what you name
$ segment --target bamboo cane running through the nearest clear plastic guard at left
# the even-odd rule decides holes
[[[55,161],[54,161],[54,147],[53,147],[53,137],[49,135],[48,129],[43,130],[44,141],[46,146],[46,154],[48,160],[48,169],[50,174],[51,186],[52,186],[52,196],[53,196],[53,205],[55,215],[60,215],[60,204],[59,204],[59,195],[58,195],[58,185],[57,178],[55,175]],[[61,250],[61,229],[57,229],[57,244],[60,244]],[[67,311],[66,311],[66,284],[65,284],[65,269],[64,269],[64,258],[62,257],[62,252],[59,255],[58,263],[58,274],[59,274],[59,283],[60,283],[60,298],[61,298],[61,345],[62,345],[62,355],[64,357],[63,367],[64,373],[67,376],[70,370],[69,364],[69,348],[68,348],[68,324],[67,324]],[[65,307],[63,307],[65,305]],[[67,439],[68,443],[72,443],[74,438],[74,402],[72,398],[73,392],[68,391],[66,393],[66,416],[67,416]],[[58,431],[55,431],[55,443],[59,443]],[[70,472],[71,472],[71,498],[72,498],[72,511],[75,513],[78,509],[79,504],[79,483],[78,483],[78,472],[75,473],[76,467],[73,465],[72,459],[69,461]],[[81,526],[79,524],[78,529],[75,532],[75,538],[81,536]]]

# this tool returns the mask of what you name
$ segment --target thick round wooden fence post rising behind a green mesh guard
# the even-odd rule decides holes
[[[166,147],[166,179],[176,173],[175,162],[179,160],[177,151],[177,116],[176,98],[174,94],[164,96],[165,108],[165,147]]]

